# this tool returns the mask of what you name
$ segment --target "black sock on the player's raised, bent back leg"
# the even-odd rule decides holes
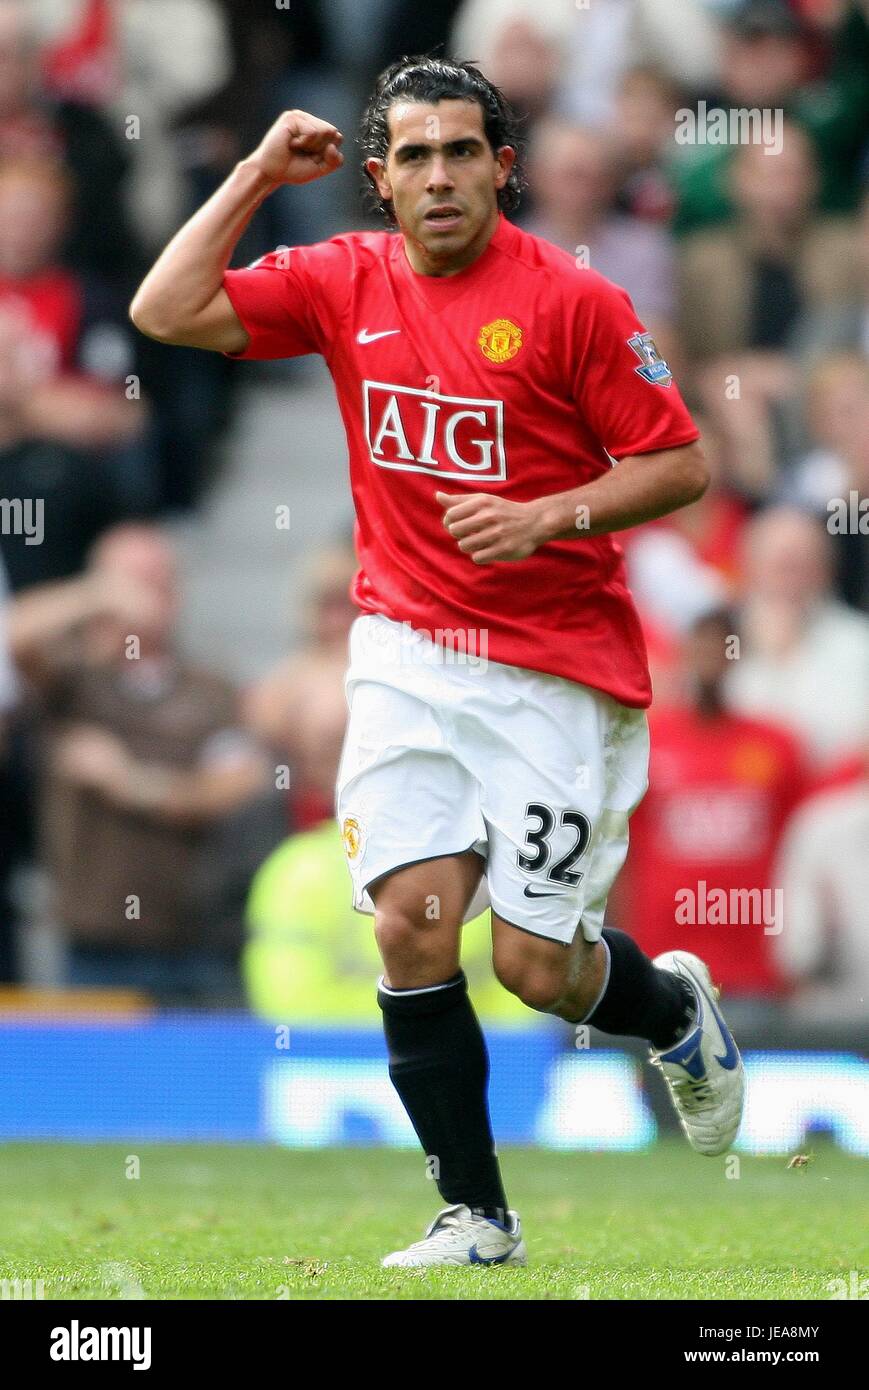
[[[583,1019],[602,1033],[648,1038],[672,1047],[691,1022],[694,991],[670,970],[659,970],[624,931],[605,927],[609,977],[592,1012]]]

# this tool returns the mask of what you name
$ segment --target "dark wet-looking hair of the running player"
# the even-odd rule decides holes
[[[374,92],[366,106],[359,128],[359,145],[363,161],[375,158],[385,163],[389,150],[389,107],[396,101],[476,101],[482,110],[482,128],[492,152],[509,145],[516,150],[510,177],[498,189],[498,206],[503,213],[517,207],[526,186],[523,170],[524,142],[519,133],[519,121],[506,97],[494,82],[484,78],[480,68],[471,63],[452,63],[448,58],[420,54],[398,58],[380,74]],[[364,168],[366,193],[373,196],[388,227],[396,225],[391,199],[380,197],[374,179]]]

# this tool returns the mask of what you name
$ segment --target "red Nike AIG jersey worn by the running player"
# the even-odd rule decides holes
[[[417,274],[398,234],[350,232],[227,271],[224,285],[250,335],[239,356],[325,357],[348,435],[363,612],[649,703],[610,535],[477,566],[435,500],[528,502],[698,438],[623,289],[505,217],[455,275]]]

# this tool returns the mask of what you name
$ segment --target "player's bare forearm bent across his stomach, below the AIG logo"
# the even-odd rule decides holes
[[[698,442],[623,459],[594,482],[534,502],[437,492],[444,525],[474,564],[524,560],[546,541],[624,531],[697,502],[709,485]]]

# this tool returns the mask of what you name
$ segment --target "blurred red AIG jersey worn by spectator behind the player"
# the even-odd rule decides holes
[[[779,840],[805,790],[799,745],[776,724],[685,708],[656,712],[651,734],[649,790],[631,816],[631,935],[651,956],[692,951],[727,990],[776,991],[766,929]]]

